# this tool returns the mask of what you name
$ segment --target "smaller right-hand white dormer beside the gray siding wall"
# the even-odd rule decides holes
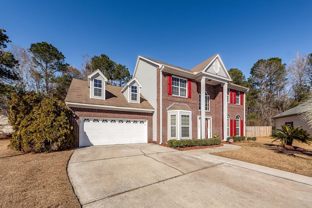
[[[142,85],[136,77],[132,78],[121,90],[129,103],[140,103],[140,88]]]

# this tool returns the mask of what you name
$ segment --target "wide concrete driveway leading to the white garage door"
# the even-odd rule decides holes
[[[86,207],[311,207],[312,178],[155,144],[77,149],[68,176]]]

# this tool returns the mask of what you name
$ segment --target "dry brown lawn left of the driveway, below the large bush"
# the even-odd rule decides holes
[[[7,149],[0,139],[0,208],[79,208],[67,176],[74,150],[27,153]]]

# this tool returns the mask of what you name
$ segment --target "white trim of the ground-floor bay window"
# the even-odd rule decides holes
[[[171,137],[171,115],[176,115],[176,137]],[[189,137],[181,137],[181,115],[189,115],[189,123],[190,123],[190,129],[189,129]],[[191,111],[184,111],[184,110],[174,110],[174,111],[168,111],[168,140],[170,139],[192,139],[192,112]]]

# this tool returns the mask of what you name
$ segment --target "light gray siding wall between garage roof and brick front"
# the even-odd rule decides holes
[[[157,67],[155,64],[140,59],[137,65],[136,77],[141,83],[141,95],[153,106],[153,141],[157,141]]]

